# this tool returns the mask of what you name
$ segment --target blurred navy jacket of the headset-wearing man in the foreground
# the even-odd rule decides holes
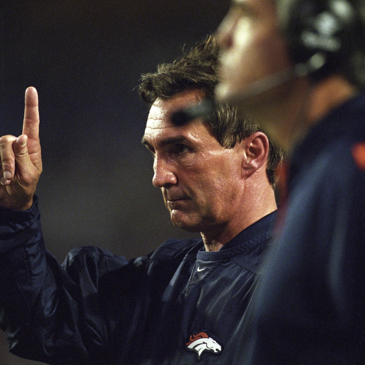
[[[274,239],[242,341],[244,364],[365,364],[365,95],[291,157]]]

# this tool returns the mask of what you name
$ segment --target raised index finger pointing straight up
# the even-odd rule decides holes
[[[34,87],[25,91],[23,134],[30,139],[39,138],[38,93]]]

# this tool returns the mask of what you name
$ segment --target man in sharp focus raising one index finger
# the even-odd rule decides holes
[[[202,240],[171,239],[136,260],[82,247],[60,266],[45,250],[33,197],[38,101],[27,89],[23,134],[0,139],[0,318],[12,352],[50,364],[239,364],[281,153],[226,104],[207,120],[175,120],[192,102],[215,101],[218,56],[210,37],[142,76],[153,184],[172,222]]]

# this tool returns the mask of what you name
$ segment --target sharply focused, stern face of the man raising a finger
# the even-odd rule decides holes
[[[198,91],[187,91],[155,101],[143,137],[154,156],[153,185],[161,188],[173,224],[195,232],[224,226],[242,210],[240,150],[222,147],[202,120],[170,121],[174,111],[199,99]]]

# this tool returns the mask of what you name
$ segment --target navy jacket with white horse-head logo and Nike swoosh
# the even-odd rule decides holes
[[[237,336],[274,218],[217,252],[198,239],[135,260],[82,247],[59,265],[37,202],[1,209],[0,323],[11,352],[49,364],[241,364]]]

